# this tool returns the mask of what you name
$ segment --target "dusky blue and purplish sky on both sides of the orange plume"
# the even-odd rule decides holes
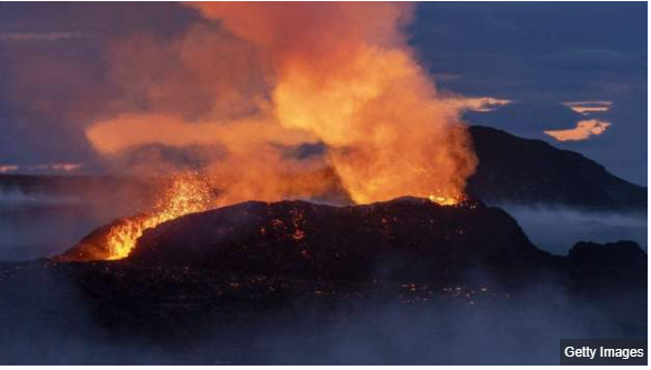
[[[112,46],[201,21],[170,2],[0,3],[0,172],[102,171],[84,128],[116,103]],[[647,184],[645,2],[421,3],[407,31],[438,89],[501,102],[468,123]]]

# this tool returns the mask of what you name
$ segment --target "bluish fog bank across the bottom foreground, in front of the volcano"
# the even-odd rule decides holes
[[[643,323],[639,332],[623,332],[604,312],[544,282],[475,306],[449,297],[418,304],[294,298],[280,307],[242,307],[227,320],[187,311],[200,329],[170,318],[159,322],[168,337],[147,337],[138,328],[124,331],[119,307],[116,322],[98,323],[88,296],[60,271],[22,266],[0,281],[3,364],[554,364],[560,338],[645,336]]]

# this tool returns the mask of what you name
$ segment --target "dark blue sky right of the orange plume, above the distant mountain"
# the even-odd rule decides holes
[[[647,3],[428,3],[412,43],[441,88],[515,101],[472,123],[542,139],[647,183]],[[559,142],[542,131],[575,127],[562,104],[612,102],[589,118],[611,122],[601,136]]]

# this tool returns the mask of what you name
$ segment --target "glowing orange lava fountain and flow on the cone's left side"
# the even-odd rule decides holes
[[[111,228],[107,237],[107,249],[110,253],[108,259],[118,260],[128,257],[136,247],[138,238],[147,229],[216,206],[211,188],[204,179],[194,173],[174,176],[152,213],[126,219],[124,222]]]

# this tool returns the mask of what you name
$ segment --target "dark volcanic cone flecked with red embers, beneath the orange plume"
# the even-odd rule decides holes
[[[118,219],[94,230],[54,260],[107,256],[112,228],[129,220]],[[613,246],[608,247],[611,261],[633,267],[633,274],[645,270],[639,262],[645,254],[635,243]],[[445,283],[463,281],[469,271],[481,270],[521,282],[540,274],[571,276],[574,266],[594,260],[590,251],[599,247],[579,243],[569,257],[550,254],[533,246],[507,212],[480,200],[440,206],[405,197],[347,207],[250,201],[147,229],[124,262],[310,280]],[[630,256],[631,250],[640,252],[617,258]],[[607,269],[602,271],[608,276]]]

